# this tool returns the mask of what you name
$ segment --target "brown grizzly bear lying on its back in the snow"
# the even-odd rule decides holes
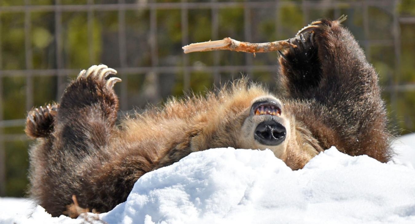
[[[388,120],[374,68],[338,20],[321,19],[281,53],[278,89],[240,79],[205,96],[170,99],[115,125],[116,71],[82,70],[60,104],[29,112],[30,193],[53,216],[76,195],[107,212],[144,173],[191,152],[218,147],[271,149],[301,169],[332,145],[349,155],[391,158]]]

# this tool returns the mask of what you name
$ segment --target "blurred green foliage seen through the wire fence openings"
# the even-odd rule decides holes
[[[188,0],[188,2],[210,2],[208,0]],[[218,0],[227,2],[227,0]],[[31,5],[53,5],[54,0],[0,0],[0,7],[22,6],[25,2]],[[87,0],[60,0],[61,5],[85,5]],[[118,0],[93,0],[94,4],[117,4]],[[142,2],[124,0],[125,3]],[[180,0],[154,0],[154,2],[181,2]],[[236,0],[234,2],[242,2]],[[237,40],[265,42],[286,39],[313,19],[320,17],[334,18],[336,15],[347,14],[344,22],[359,40],[366,55],[379,73],[380,83],[388,86],[393,83],[415,83],[415,24],[400,24],[400,57],[395,57],[393,43],[394,32],[393,14],[398,16],[415,16],[415,1],[401,0],[397,12],[391,7],[368,6],[366,21],[369,31],[365,31],[364,8],[341,4],[337,9],[322,7],[307,9],[300,0],[281,0],[276,8],[258,8],[246,12],[243,7],[225,7],[216,11],[200,8],[189,9],[188,34],[182,32],[182,11],[180,9],[156,10],[151,14],[150,9],[131,8],[125,11],[125,61],[120,60],[120,15],[117,10],[91,11],[92,20],[88,23],[88,12],[62,11],[60,14],[61,33],[56,36],[56,14],[54,11],[42,10],[29,13],[29,26],[25,29],[27,15],[24,11],[0,13],[0,70],[19,70],[15,76],[1,76],[2,85],[2,114],[3,120],[24,119],[27,113],[27,94],[33,98],[32,106],[41,106],[50,101],[59,101],[59,81],[57,74],[34,75],[27,79],[24,70],[55,70],[58,69],[57,54],[62,58],[62,69],[89,67],[93,64],[104,63],[111,67],[151,67],[151,66],[191,66],[196,69],[189,73],[190,89],[195,93],[212,88],[213,84],[225,82],[228,79],[248,75],[257,82],[263,82],[269,87],[275,86],[275,72],[264,71],[229,71],[213,72],[203,69],[207,66],[253,65],[275,66],[277,69],[278,55],[276,53],[257,54],[256,58],[246,53],[237,52],[203,52],[183,56],[183,35],[188,35],[188,42],[201,42],[210,39],[222,39],[230,36]],[[325,1],[321,1],[325,2]],[[330,2],[330,1],[328,1]],[[355,2],[358,2],[357,0]],[[86,7],[86,6],[85,6]],[[307,14],[305,14],[305,11]],[[248,13],[248,14],[246,14]],[[218,30],[212,31],[214,24],[212,16],[217,14]],[[156,40],[151,39],[151,16],[156,17]],[[244,18],[249,24],[244,23]],[[310,21],[306,21],[310,19]],[[27,24],[26,24],[27,25]],[[248,28],[249,32],[245,31]],[[213,36],[215,35],[215,36]],[[27,39],[26,39],[27,38]],[[57,39],[59,38],[59,39]],[[26,46],[29,40],[29,46]],[[57,42],[61,49],[56,48]],[[157,60],[151,57],[151,45],[156,41]],[[388,42],[389,41],[389,42]],[[186,43],[187,44],[187,43]],[[26,59],[29,49],[32,58]],[[188,62],[184,57],[187,57]],[[28,63],[29,62],[29,63]],[[400,65],[399,67],[397,65]],[[68,74],[71,78],[75,74]],[[162,73],[125,72],[121,74],[123,84],[115,85],[120,95],[127,94],[124,103],[127,109],[144,108],[147,103],[157,103],[169,95],[182,96],[185,82],[183,71],[172,70]],[[216,79],[215,79],[216,77]],[[220,80],[217,80],[219,78]],[[32,82],[32,92],[27,92],[27,82]],[[68,80],[64,78],[63,81]],[[127,82],[128,80],[128,82]],[[64,85],[64,83],[63,83]],[[400,133],[415,131],[415,94],[413,92],[383,93],[388,103],[395,125]],[[123,103],[123,102],[122,102]],[[23,134],[24,127],[3,128],[4,134]],[[7,183],[6,195],[20,197],[27,190],[28,145],[29,140],[6,140],[3,147],[6,153]],[[4,195],[2,195],[4,196]]]

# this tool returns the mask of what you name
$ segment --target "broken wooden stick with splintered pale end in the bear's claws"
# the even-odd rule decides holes
[[[197,51],[242,51],[247,53],[260,53],[270,51],[281,51],[285,48],[297,47],[288,40],[274,41],[268,43],[249,43],[234,40],[230,37],[224,38],[221,41],[206,41],[202,43],[192,43],[183,47],[184,53]]]

